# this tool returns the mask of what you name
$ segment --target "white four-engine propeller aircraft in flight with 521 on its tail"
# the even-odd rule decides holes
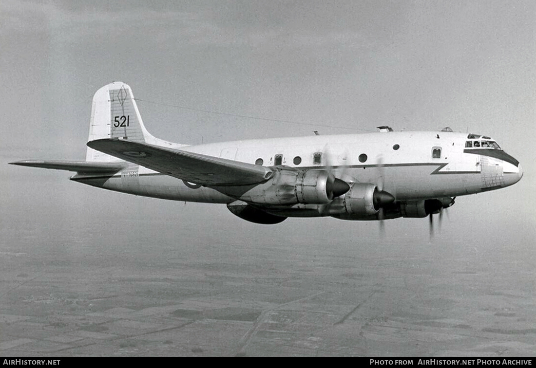
[[[25,160],[80,183],[163,199],[226,204],[244,220],[426,217],[454,198],[515,184],[519,162],[486,136],[380,132],[182,145],[147,132],[130,87],[93,97],[85,161]]]

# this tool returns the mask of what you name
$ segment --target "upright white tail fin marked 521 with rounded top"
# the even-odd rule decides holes
[[[123,82],[112,82],[100,88],[93,96],[88,141],[102,138],[119,138],[157,145],[160,141],[145,129],[132,90]],[[88,147],[86,161],[120,160]]]

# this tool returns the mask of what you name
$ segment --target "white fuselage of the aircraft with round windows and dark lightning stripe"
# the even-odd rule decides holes
[[[501,149],[494,155],[486,153],[489,149],[467,150],[466,141],[465,133],[408,131],[177,144],[167,148],[267,167],[327,169],[348,183],[382,186],[397,201],[463,196],[519,181],[523,171],[513,157]],[[235,200],[215,189],[135,164],[114,175],[76,175],[72,179],[139,196],[212,203]]]

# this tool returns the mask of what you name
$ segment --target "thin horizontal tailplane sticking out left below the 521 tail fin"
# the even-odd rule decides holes
[[[41,167],[45,169],[76,171],[81,174],[95,174],[105,172],[117,172],[126,167],[125,163],[111,162],[86,162],[86,161],[63,161],[63,160],[23,160],[10,162],[12,165]]]

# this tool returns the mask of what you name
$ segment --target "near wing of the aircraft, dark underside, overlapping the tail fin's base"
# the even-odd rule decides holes
[[[206,186],[257,184],[272,176],[270,169],[260,165],[117,138],[93,140],[87,142],[87,146],[162,174]]]

